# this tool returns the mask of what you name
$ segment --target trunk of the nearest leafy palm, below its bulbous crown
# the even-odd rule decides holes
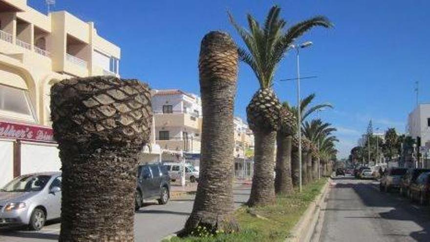
[[[254,131],[254,176],[248,206],[268,205],[275,202],[273,171],[276,131]]]

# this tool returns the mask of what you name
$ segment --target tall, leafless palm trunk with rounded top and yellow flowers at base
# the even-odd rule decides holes
[[[237,46],[228,34],[210,32],[203,38],[199,57],[203,108],[200,180],[193,212],[181,236],[198,226],[211,233],[238,229],[232,220],[237,64]]]

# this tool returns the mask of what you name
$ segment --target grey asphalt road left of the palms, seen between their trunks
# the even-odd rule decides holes
[[[235,206],[245,203],[250,194],[250,186],[235,186]],[[156,202],[146,203],[134,216],[134,236],[136,242],[159,242],[165,236],[183,228],[193,209],[194,196],[169,201],[166,205]],[[52,221],[40,231],[0,230],[0,242],[52,242],[58,241],[59,221]]]

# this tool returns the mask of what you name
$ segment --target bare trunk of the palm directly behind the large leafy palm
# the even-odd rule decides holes
[[[277,134],[275,193],[290,194],[293,191],[291,177],[291,136],[282,132]]]

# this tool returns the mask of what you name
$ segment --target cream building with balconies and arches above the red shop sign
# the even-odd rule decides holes
[[[121,50],[93,22],[0,0],[0,186],[61,166],[50,129],[50,88],[71,77],[119,76]]]

